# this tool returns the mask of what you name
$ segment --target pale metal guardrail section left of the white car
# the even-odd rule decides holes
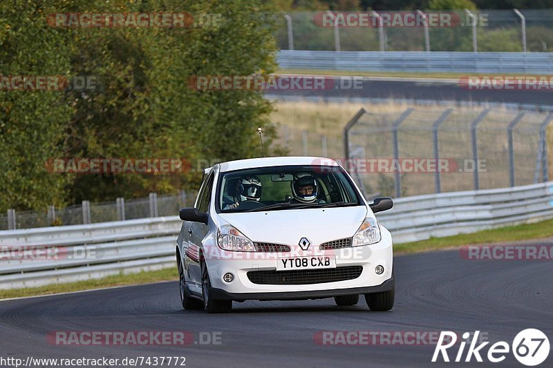
[[[178,217],[0,231],[0,289],[175,266]]]

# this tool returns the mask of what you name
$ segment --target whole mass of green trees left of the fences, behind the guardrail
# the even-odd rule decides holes
[[[46,1],[44,1],[46,3]],[[198,91],[198,75],[267,75],[276,46],[274,9],[261,0],[15,1],[1,4],[0,65],[12,75],[92,75],[100,90],[1,92],[0,209],[113,200],[196,186],[183,175],[53,175],[46,159],[125,157],[238,159],[269,146],[271,104],[260,91]],[[183,28],[53,28],[53,12],[218,14]],[[220,21],[218,21],[220,20]]]

